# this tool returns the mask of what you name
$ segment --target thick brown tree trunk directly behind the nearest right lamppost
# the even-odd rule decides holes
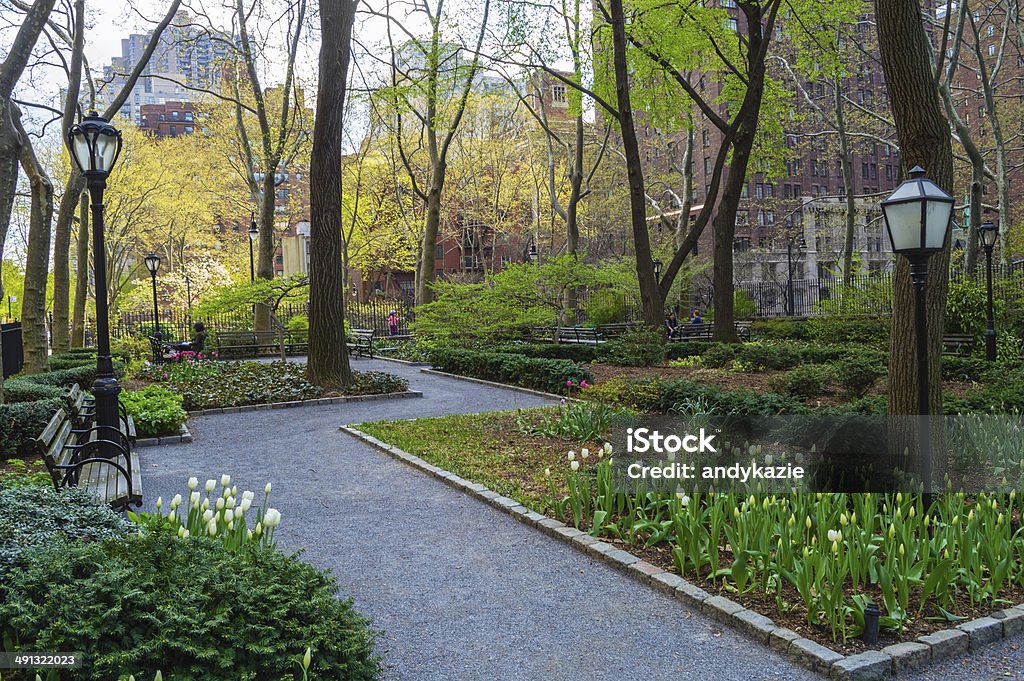
[[[918,0],[876,0],[882,68],[904,170],[920,165],[939,186],[951,191],[952,143],[942,115],[942,101],[932,73],[931,45]],[[893,292],[889,361],[889,414],[918,414],[914,295],[909,265],[897,258]],[[929,258],[926,306],[928,320],[929,403],[942,414],[939,361],[948,290],[949,245]]]

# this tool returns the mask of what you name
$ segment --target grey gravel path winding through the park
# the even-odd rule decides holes
[[[355,368],[403,375],[425,396],[194,419],[194,442],[141,451],[150,510],[190,475],[272,481],[282,547],[331,568],[373,618],[388,681],[816,678],[338,430],[549,400],[394,363]]]

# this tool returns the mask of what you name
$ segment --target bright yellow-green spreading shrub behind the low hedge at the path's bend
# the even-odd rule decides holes
[[[525,327],[552,326],[566,290],[583,286],[593,266],[569,255],[522,263],[479,284],[440,281],[434,301],[416,309],[413,332],[438,339],[512,340]]]

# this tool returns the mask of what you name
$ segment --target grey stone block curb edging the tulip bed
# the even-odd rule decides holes
[[[451,376],[442,372],[423,371]],[[463,376],[454,376],[453,378],[489,383]],[[921,636],[915,641],[904,641],[881,650],[865,650],[854,655],[844,655],[820,643],[804,638],[791,629],[779,627],[770,618],[750,610],[725,596],[710,594],[674,572],[663,570],[628,551],[602,542],[575,527],[569,527],[554,518],[530,511],[514,499],[503,497],[478,482],[467,480],[455,473],[428,464],[423,459],[381,441],[357,428],[340,426],[339,429],[394,459],[411,464],[446,484],[509,513],[519,521],[541,529],[549,537],[566,542],[593,558],[610,563],[639,582],[672,594],[709,618],[742,632],[759,643],[767,643],[769,647],[784,653],[794,662],[837,681],[889,679],[894,674],[919,670],[950,656],[966,655],[969,651],[976,652],[985,645],[1024,633],[1024,603],[1020,603],[994,612],[991,616],[978,618],[964,623],[955,629],[944,629],[934,634]]]

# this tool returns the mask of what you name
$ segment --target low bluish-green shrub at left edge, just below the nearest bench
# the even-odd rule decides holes
[[[121,515],[78,487],[0,486],[0,584],[23,567],[25,553],[33,548],[123,537],[129,527]]]

